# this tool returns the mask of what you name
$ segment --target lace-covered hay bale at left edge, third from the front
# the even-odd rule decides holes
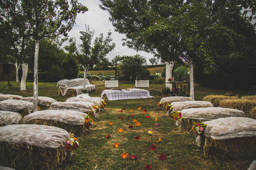
[[[29,101],[20,101],[15,99],[7,99],[0,101],[0,110],[15,111],[20,113],[22,117],[33,111],[33,103]]]

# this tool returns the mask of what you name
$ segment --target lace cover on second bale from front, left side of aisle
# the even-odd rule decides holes
[[[42,110],[35,111],[24,117],[24,124],[33,119],[42,119],[42,120],[54,120],[58,122],[63,122],[65,124],[72,125],[83,125],[84,117],[87,114],[81,111],[72,111],[72,110]]]

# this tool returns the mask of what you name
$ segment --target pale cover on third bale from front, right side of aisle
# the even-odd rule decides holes
[[[209,101],[176,101],[172,103],[173,111],[182,111],[188,108],[207,108],[213,107]]]

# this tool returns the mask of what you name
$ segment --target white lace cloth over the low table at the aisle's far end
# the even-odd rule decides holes
[[[101,93],[101,97],[108,97],[109,101],[121,100],[121,99],[141,99],[154,97],[150,96],[148,90],[144,89],[123,89],[123,90],[104,90]]]

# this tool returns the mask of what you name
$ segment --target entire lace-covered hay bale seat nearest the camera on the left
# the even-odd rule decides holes
[[[0,164],[17,169],[56,169],[67,157],[64,129],[47,125],[0,127]]]

